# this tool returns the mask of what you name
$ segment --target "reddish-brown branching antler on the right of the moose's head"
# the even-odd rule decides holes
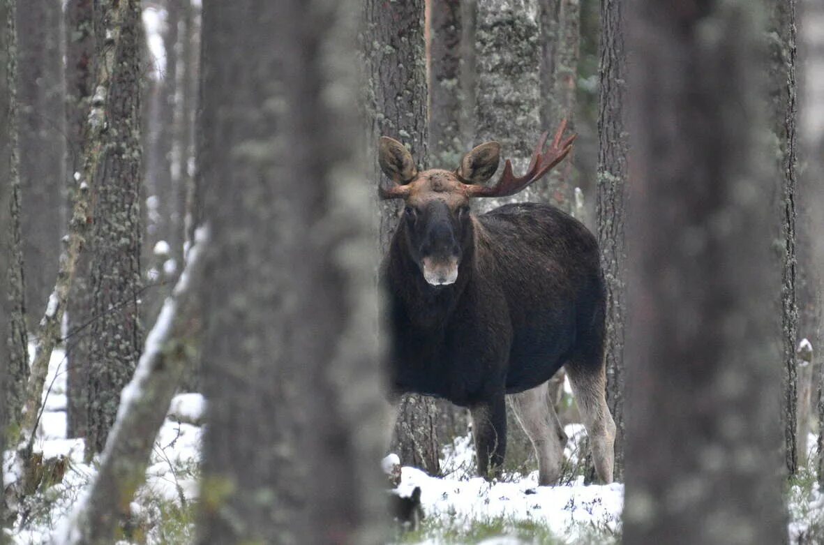
[[[535,150],[532,152],[532,160],[529,162],[527,173],[520,177],[513,176],[512,162],[507,159],[503,167],[503,174],[495,183],[494,186],[476,186],[471,184],[464,184],[464,194],[467,197],[508,197],[515,195],[518,191],[529,186],[533,181],[539,180],[549,172],[552,167],[555,167],[559,162],[564,160],[570,151],[572,151],[572,143],[577,134],[573,134],[567,139],[561,140],[564,137],[567,121],[561,121],[558,127],[558,132],[555,133],[555,139],[552,140],[550,148],[546,153],[542,153],[546,138],[549,132],[541,134],[541,139],[538,141]]]

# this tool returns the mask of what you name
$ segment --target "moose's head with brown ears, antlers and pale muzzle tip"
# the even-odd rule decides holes
[[[379,186],[378,195],[404,200],[400,229],[410,257],[428,284],[443,286],[457,280],[458,265],[472,243],[470,199],[515,195],[540,179],[572,149],[575,135],[564,139],[565,129],[566,120],[546,152],[543,149],[548,133],[541,135],[523,176],[513,175],[512,163],[507,159],[503,174],[492,186],[484,184],[498,170],[501,146],[497,142],[473,148],[455,171],[433,168],[419,172],[403,144],[381,137],[378,162],[390,183]]]

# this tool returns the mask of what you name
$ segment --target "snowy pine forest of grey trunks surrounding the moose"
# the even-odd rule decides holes
[[[488,482],[449,402],[385,444],[377,141],[562,120],[474,213],[596,234],[616,482],[563,370]],[[0,0],[0,543],[824,543],[822,176],[817,0]]]

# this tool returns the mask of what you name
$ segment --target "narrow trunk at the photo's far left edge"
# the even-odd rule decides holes
[[[2,331],[0,342],[7,344],[8,366],[5,394],[2,400],[3,420],[0,424],[5,426],[14,424],[20,420],[22,402],[26,392],[26,380],[29,375],[29,352],[28,335],[26,333],[26,304],[25,293],[26,284],[24,282],[23,253],[21,241],[21,209],[20,209],[20,176],[19,160],[17,155],[18,139],[17,128],[19,125],[18,105],[16,89],[19,86],[19,76],[17,73],[17,33],[16,33],[16,2],[6,2],[3,10],[4,17],[0,20],[3,26],[3,48],[2,55],[2,85],[5,93],[2,101],[2,118],[0,127],[3,127],[5,134],[2,136],[2,183],[7,190],[7,198],[4,200],[3,208],[0,209],[2,215],[7,217],[2,233],[3,242],[7,244],[4,249],[6,257],[0,263],[6,268],[6,284],[0,284],[7,289],[7,321],[8,329]],[[4,302],[5,304],[6,302]]]

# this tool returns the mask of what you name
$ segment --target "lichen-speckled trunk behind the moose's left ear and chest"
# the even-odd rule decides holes
[[[371,125],[367,147],[377,146],[377,139],[390,136],[404,143],[420,167],[428,167],[427,86],[424,59],[424,1],[363,3],[366,35],[363,55],[368,78],[366,114]],[[372,157],[372,188],[382,173],[377,156]],[[382,254],[389,248],[397,225],[398,203],[379,203],[381,224],[379,240]],[[440,471],[438,438],[433,426],[415,423],[438,419],[438,409],[430,397],[413,395],[401,404],[392,449],[401,463],[414,464],[435,475]]]

